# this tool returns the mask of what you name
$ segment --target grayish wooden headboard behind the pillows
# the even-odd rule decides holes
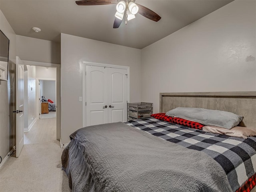
[[[244,116],[239,126],[256,130],[256,91],[160,93],[160,112],[176,107],[229,111]]]

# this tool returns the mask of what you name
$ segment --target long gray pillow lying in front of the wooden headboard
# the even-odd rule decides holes
[[[190,107],[177,107],[166,112],[166,115],[226,129],[237,126],[244,118],[227,111]]]

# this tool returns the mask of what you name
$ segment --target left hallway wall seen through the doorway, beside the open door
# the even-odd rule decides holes
[[[28,127],[36,115],[36,66],[28,66]]]

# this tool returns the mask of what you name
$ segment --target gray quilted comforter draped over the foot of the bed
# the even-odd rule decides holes
[[[222,167],[204,152],[121,122],[82,128],[70,138],[62,168],[73,191],[232,191]]]

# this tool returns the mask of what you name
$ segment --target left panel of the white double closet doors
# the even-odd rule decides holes
[[[108,68],[86,65],[86,126],[104,123],[108,123]]]

